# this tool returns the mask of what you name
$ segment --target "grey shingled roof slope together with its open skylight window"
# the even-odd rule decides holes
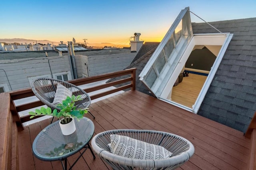
[[[145,43],[127,67],[137,68],[136,89],[245,132],[256,111],[256,18],[210,22],[219,33],[206,23],[191,23],[187,9],[157,48],[140,53]],[[174,87],[183,72],[188,77]],[[174,101],[176,87],[194,75],[205,77],[194,104]],[[192,85],[179,89],[183,100]]]

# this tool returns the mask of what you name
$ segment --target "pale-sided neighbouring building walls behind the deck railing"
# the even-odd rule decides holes
[[[131,63],[136,55],[136,53],[127,53],[129,50],[113,50],[115,54],[104,54],[105,52],[104,50],[84,51],[88,56],[75,54],[78,78],[122,70]],[[55,52],[51,53],[51,55],[55,54],[52,57],[32,58],[34,53],[15,53],[16,59],[0,60],[0,93],[29,88],[32,80],[39,77],[64,81],[74,79],[67,53],[64,56],[56,56],[57,53]],[[45,55],[45,53],[39,52],[38,54]],[[6,53],[6,55],[10,55],[10,53]],[[19,59],[18,55],[24,55],[24,57],[28,55],[30,57]]]

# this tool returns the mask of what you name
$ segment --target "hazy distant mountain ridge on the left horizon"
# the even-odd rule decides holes
[[[4,38],[4,39],[1,39],[0,38],[0,42],[5,42],[5,43],[42,43],[42,44],[47,44],[47,43],[54,43],[54,45],[58,45],[60,42],[52,42],[52,41],[49,41],[49,40],[28,40],[28,39],[24,39],[24,38]]]

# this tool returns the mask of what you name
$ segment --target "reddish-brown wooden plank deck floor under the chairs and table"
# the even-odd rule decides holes
[[[95,134],[111,129],[149,129],[178,134],[192,142],[195,153],[188,162],[178,169],[183,170],[242,170],[246,169],[250,139],[242,132],[226,127],[199,115],[150,97],[139,91],[125,93],[92,103],[90,111]],[[90,115],[86,115],[90,117]],[[20,170],[58,170],[59,161],[45,162],[32,154],[32,143],[42,128],[49,125],[45,120],[25,127],[18,132]],[[78,154],[68,158],[72,164]],[[93,160],[86,150],[73,170],[111,169],[98,156]]]

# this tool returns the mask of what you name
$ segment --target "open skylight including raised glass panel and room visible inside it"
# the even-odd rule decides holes
[[[231,38],[230,33],[193,34],[187,7],[158,45],[140,80],[158,99],[197,113]],[[178,84],[183,72],[188,77],[181,77],[184,81]],[[178,89],[182,83],[184,87]],[[196,89],[188,88],[192,86]]]

